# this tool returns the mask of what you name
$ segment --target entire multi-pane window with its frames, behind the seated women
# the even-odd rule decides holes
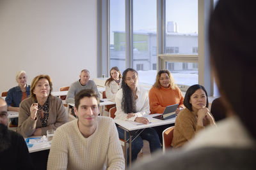
[[[108,29],[109,69],[133,67],[139,82],[149,85],[157,70],[168,69],[182,90],[200,83],[212,94],[205,43],[211,1],[108,0],[108,25],[102,27]]]

